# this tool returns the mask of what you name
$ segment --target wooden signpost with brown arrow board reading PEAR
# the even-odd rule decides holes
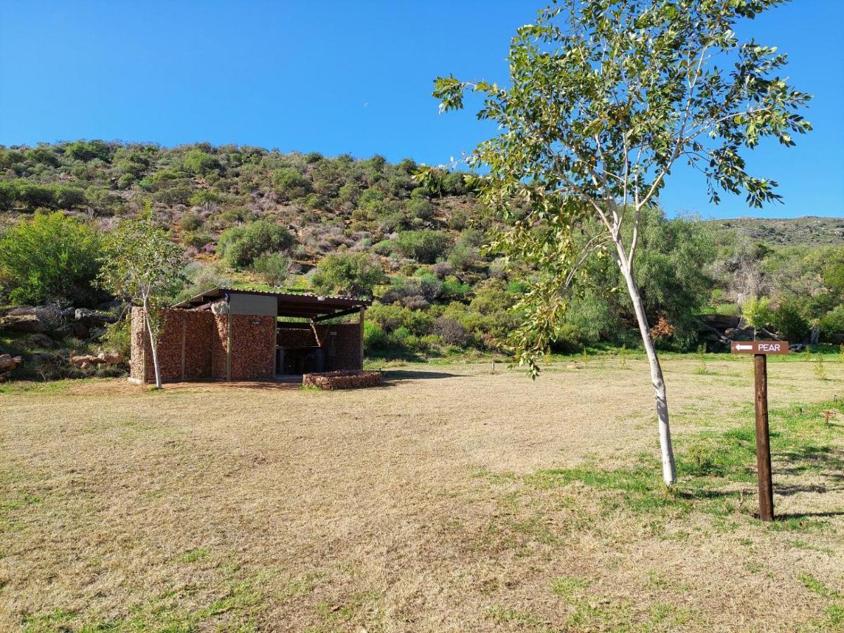
[[[768,432],[768,354],[788,354],[787,341],[733,341],[733,354],[754,354],[756,404],[756,468],[759,471],[759,518],[774,520],[771,481],[771,436]]]

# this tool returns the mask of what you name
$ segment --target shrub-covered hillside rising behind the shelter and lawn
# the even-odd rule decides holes
[[[55,334],[52,341],[0,322],[0,353],[24,354],[27,369],[18,373],[54,376],[72,352],[125,351],[125,311],[93,281],[102,237],[145,206],[190,262],[173,300],[215,285],[366,295],[376,300],[366,329],[371,356],[501,353],[520,323],[511,308],[534,271],[484,252],[497,220],[463,174],[441,170],[420,187],[418,166],[208,143],[0,147],[0,317],[45,304],[55,309],[41,313],[63,315],[55,331],[31,324],[41,313],[12,315],[41,327],[35,334]],[[812,321],[830,336],[844,332],[844,220],[695,222],[652,209],[643,222],[636,269],[649,318],[674,327],[663,347],[694,349],[696,315],[736,315],[759,296],[790,315],[782,327],[793,340]],[[614,262],[596,258],[588,273],[571,291],[553,348],[635,346]],[[62,319],[77,307],[111,315],[73,338]]]

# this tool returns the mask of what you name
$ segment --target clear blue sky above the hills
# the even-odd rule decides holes
[[[411,156],[429,164],[473,149],[494,130],[472,112],[438,115],[437,74],[506,81],[516,27],[541,3],[0,2],[0,143],[119,138]],[[750,154],[780,182],[782,205],[718,207],[676,170],[671,214],[844,215],[844,1],[797,0],[743,25],[740,36],[789,54],[787,74],[815,95],[814,133]]]

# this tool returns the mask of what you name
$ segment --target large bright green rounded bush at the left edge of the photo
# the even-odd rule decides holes
[[[16,304],[86,300],[100,265],[100,235],[63,214],[35,214],[0,237],[0,279]]]

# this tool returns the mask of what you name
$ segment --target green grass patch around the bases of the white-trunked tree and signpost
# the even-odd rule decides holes
[[[823,412],[832,409],[844,413],[844,403],[826,402],[771,409],[771,455],[775,473],[829,473],[844,470],[841,438],[844,427],[827,425]],[[682,516],[702,511],[713,517],[712,526],[732,531],[739,525],[739,514],[749,515],[755,501],[744,503],[749,489],[755,489],[756,439],[753,411],[744,408],[740,425],[729,430],[705,430],[691,438],[675,441],[675,459],[679,483],[663,484],[662,468],[656,457],[642,455],[636,463],[621,468],[602,468],[584,463],[576,468],[546,468],[516,478],[512,473],[490,473],[480,469],[474,478],[493,484],[521,480],[533,490],[565,489],[582,484],[602,493],[601,504],[607,512],[625,508],[635,514],[647,514],[654,521],[667,516]],[[814,530],[825,527],[825,517],[781,517],[771,523],[771,530]],[[658,525],[654,526],[658,530]]]

